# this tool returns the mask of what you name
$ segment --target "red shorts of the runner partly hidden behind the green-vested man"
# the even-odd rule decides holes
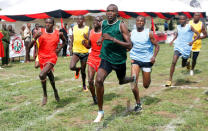
[[[101,61],[100,57],[96,57],[96,56],[93,56],[93,55],[90,54],[88,56],[87,64],[89,66],[91,66],[92,68],[94,68],[97,72],[97,70],[100,66],[100,61]]]

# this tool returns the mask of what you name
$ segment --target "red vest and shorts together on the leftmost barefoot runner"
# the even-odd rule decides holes
[[[53,30],[52,33],[47,33],[45,28],[41,29],[42,35],[38,38],[38,58],[39,63],[45,66],[46,63],[56,64],[57,55],[56,48],[59,43],[59,31]]]

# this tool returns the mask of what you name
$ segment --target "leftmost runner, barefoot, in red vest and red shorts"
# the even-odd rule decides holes
[[[60,100],[58,90],[55,86],[55,79],[53,75],[53,67],[57,61],[57,54],[63,48],[66,43],[66,39],[62,32],[53,29],[54,19],[47,18],[45,20],[45,28],[41,28],[40,31],[35,35],[30,46],[34,45],[36,40],[39,42],[38,58],[41,72],[39,74],[42,88],[43,88],[43,101],[42,106],[47,103],[47,90],[46,90],[46,77],[48,76],[51,86],[54,91],[56,101]],[[60,48],[58,47],[59,38],[63,41]]]

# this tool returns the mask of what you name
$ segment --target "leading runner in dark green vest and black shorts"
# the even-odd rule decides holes
[[[102,43],[102,49],[100,52],[101,63],[95,82],[99,111],[94,122],[100,122],[104,117],[103,83],[112,70],[116,71],[119,84],[133,82],[135,79],[126,77],[127,50],[132,48],[132,44],[127,26],[117,19],[118,7],[110,4],[107,7],[106,16],[107,20],[102,22],[102,37],[97,42],[99,45]]]

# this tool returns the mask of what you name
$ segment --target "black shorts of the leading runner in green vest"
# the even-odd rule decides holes
[[[110,62],[101,59],[101,63],[99,68],[104,69],[108,74],[112,72],[112,70],[115,70],[117,78],[119,80],[125,78],[126,76],[126,63],[124,64],[111,64]]]

